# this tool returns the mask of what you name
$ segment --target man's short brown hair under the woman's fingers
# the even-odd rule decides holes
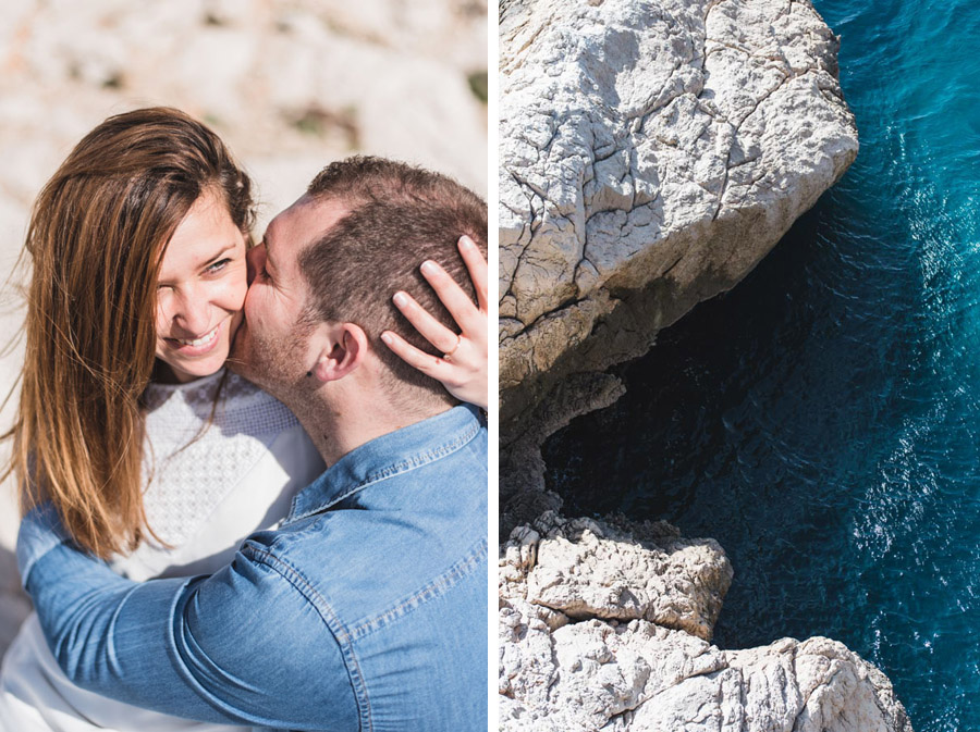
[[[395,356],[381,333],[395,331],[412,345],[438,351],[392,303],[404,289],[453,332],[458,327],[422,278],[419,265],[434,260],[476,302],[456,248],[466,234],[487,256],[487,203],[445,175],[382,158],[357,156],[324,168],[309,184],[315,199],[341,202],[348,212],[299,257],[318,321],[356,323],[392,375],[391,386],[455,404],[434,380]],[[408,396],[408,395],[405,395]],[[409,397],[414,399],[414,397]]]

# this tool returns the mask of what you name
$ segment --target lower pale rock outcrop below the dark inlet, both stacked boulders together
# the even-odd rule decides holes
[[[548,512],[501,546],[499,576],[501,730],[911,732],[841,643],[712,646],[732,580],[712,539]]]

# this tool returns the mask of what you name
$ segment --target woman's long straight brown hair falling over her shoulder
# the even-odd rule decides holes
[[[99,557],[132,550],[146,526],[139,398],[154,368],[166,245],[207,190],[248,234],[250,188],[213,132],[150,108],[93,129],[34,203],[26,356],[4,476],[17,475],[22,513],[51,500]]]

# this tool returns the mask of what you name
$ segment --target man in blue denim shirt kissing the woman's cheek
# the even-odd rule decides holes
[[[486,725],[486,426],[381,345],[445,368],[393,335],[388,294],[420,259],[455,260],[461,235],[473,256],[486,226],[466,189],[372,158],[328,166],[273,220],[233,356],[331,467],[210,578],[130,582],[64,542],[52,511],[29,513],[22,578],[72,681],[203,721]],[[460,337],[399,299],[452,359]]]

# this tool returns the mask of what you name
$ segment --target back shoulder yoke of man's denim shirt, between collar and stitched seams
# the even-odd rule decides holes
[[[350,625],[406,601],[417,608],[409,598],[453,595],[470,575],[486,584],[486,471],[473,455],[420,464],[255,534],[243,553],[316,592]]]

